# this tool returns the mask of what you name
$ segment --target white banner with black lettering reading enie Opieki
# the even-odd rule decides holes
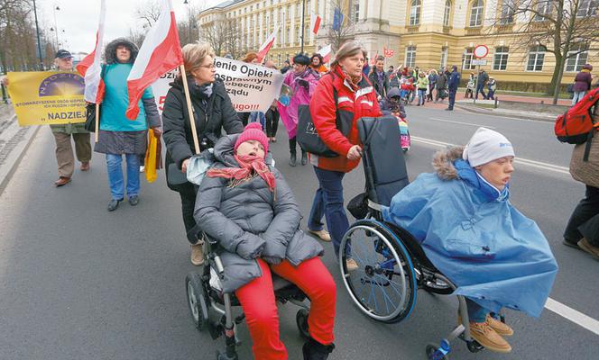
[[[215,58],[217,78],[225,83],[226,92],[237,112],[266,112],[279,98],[284,76],[274,68],[244,63],[230,58]],[[170,83],[178,71],[167,73],[152,84],[158,110],[162,112]]]

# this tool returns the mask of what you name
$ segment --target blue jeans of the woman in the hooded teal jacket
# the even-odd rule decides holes
[[[139,194],[139,155],[124,154],[127,161],[127,196]],[[124,177],[121,154],[106,154],[106,166],[108,167],[108,184],[113,199],[121,200],[124,197]]]

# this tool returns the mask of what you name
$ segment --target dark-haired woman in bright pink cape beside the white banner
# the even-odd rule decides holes
[[[290,166],[295,166],[297,161],[297,141],[296,133],[298,130],[298,107],[307,105],[310,102],[314,89],[320,77],[317,72],[309,67],[310,59],[303,54],[298,54],[293,58],[293,69],[285,75],[284,85],[288,85],[292,91],[289,105],[281,103],[279,113],[281,121],[287,129],[289,135]],[[308,154],[301,149],[301,165],[308,163]]]

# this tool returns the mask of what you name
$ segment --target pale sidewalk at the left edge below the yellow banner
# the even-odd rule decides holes
[[[22,128],[16,121],[13,106],[0,104],[0,193],[16,170],[40,126]]]

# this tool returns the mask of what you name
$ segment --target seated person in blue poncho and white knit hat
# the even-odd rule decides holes
[[[472,337],[507,353],[513,330],[490,316],[502,308],[539,317],[558,264],[537,224],[508,200],[514,151],[480,128],[465,148],[447,148],[384,207],[384,220],[410,231],[464,295]]]

